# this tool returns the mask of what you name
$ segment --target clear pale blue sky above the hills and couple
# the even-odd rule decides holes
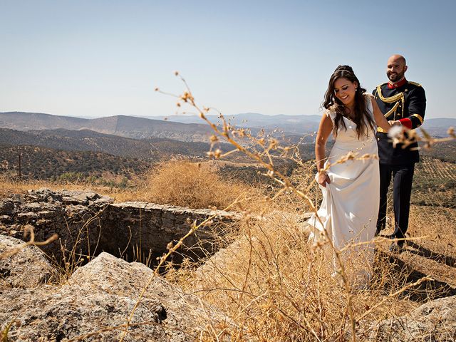
[[[455,3],[0,0],[0,111],[170,115],[177,70],[225,114],[319,114],[336,66],[371,91],[401,53],[427,118],[456,118]]]

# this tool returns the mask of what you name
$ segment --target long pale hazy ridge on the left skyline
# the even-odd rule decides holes
[[[126,138],[169,138],[182,141],[208,141],[211,129],[204,124],[172,123],[164,120],[116,115],[83,119],[43,113],[0,113],[0,127],[13,130],[93,130]]]

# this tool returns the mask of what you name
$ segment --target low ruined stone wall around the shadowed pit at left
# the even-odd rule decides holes
[[[41,189],[0,201],[0,232],[26,239],[24,226],[30,224],[36,241],[58,234],[56,242],[41,248],[59,262],[63,257],[75,261],[101,252],[129,261],[155,259],[167,251],[169,242],[187,234],[194,222],[208,218],[211,224],[199,228],[180,250],[191,258],[214,252],[213,242],[234,226],[239,214],[146,202],[113,203],[110,197],[91,191]],[[180,259],[177,255],[174,261]]]

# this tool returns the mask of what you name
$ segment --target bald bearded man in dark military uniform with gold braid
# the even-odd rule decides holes
[[[373,90],[378,107],[390,123],[396,123],[408,130],[423,124],[426,109],[426,96],[423,87],[405,78],[407,63],[400,55],[388,59],[386,76],[388,82],[380,84]],[[412,192],[413,171],[415,162],[420,160],[418,143],[403,144],[393,147],[388,135],[378,128],[378,157],[380,160],[380,209],[378,211],[377,232],[385,229],[386,203],[388,187],[393,176],[393,207],[395,229],[391,239],[404,239],[408,228],[410,212],[410,194]],[[404,240],[395,240],[390,252],[402,252]]]

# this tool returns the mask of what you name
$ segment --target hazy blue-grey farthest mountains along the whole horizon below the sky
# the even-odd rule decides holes
[[[212,123],[220,123],[216,115],[207,117]],[[242,113],[227,115],[225,120],[237,128],[250,128],[256,134],[280,131],[285,135],[315,132],[321,115],[263,115]],[[447,129],[456,127],[456,118],[431,118],[425,120],[423,129],[434,136],[447,136]],[[207,142],[212,130],[197,115],[170,115],[167,117],[136,117],[115,115],[105,118],[75,118],[44,113],[0,113],[0,128],[13,130],[92,130],[125,138],[168,138],[180,141]]]

